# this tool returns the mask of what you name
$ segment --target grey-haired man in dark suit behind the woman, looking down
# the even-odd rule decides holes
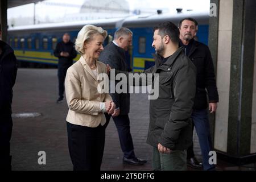
[[[115,31],[114,40],[110,42],[104,51],[101,52],[99,60],[105,64],[109,64],[113,69],[119,71],[130,71],[125,61],[125,51],[132,44],[133,32],[128,28],[122,27]],[[112,85],[110,85],[112,86]],[[146,160],[139,159],[134,154],[133,139],[130,133],[130,94],[129,93],[110,93],[116,105],[116,109],[112,114],[115,126],[118,130],[119,141],[123,151],[123,163],[142,165]],[[105,114],[107,122],[110,115]]]

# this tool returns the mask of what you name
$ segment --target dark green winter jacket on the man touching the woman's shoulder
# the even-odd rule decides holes
[[[196,67],[184,55],[183,48],[177,49],[164,63],[159,56],[153,56],[155,65],[142,72],[152,74],[152,85],[155,85],[155,73],[159,78],[159,96],[150,100],[147,143],[154,147],[160,143],[171,150],[187,150],[192,144],[191,113],[196,91]],[[115,75],[118,73],[128,74],[115,70]]]

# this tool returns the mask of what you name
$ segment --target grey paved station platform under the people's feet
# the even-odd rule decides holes
[[[13,170],[72,170],[68,152],[65,117],[67,102],[56,104],[57,69],[18,69],[13,97],[13,135],[11,155]],[[150,171],[151,146],[146,143],[149,122],[147,94],[131,94],[130,126],[135,154],[147,163],[131,166],[122,163],[117,129],[110,121],[106,129],[103,171]],[[17,113],[39,113],[38,117],[22,118]],[[201,160],[200,147],[195,135],[195,154]],[[39,165],[39,151],[46,152],[46,165]],[[217,170],[255,170],[256,163],[244,166],[217,160]],[[188,168],[188,170],[195,170]]]

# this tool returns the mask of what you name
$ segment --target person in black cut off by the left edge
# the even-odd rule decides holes
[[[0,28],[1,35],[1,28]],[[11,170],[10,139],[13,130],[11,102],[17,62],[13,49],[0,40],[0,170]]]

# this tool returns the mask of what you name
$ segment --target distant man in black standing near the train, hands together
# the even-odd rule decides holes
[[[57,103],[63,102],[64,80],[67,69],[73,64],[73,59],[77,56],[74,44],[70,41],[68,33],[63,35],[63,40],[57,43],[54,56],[59,57],[58,78],[59,78],[59,98]]]

